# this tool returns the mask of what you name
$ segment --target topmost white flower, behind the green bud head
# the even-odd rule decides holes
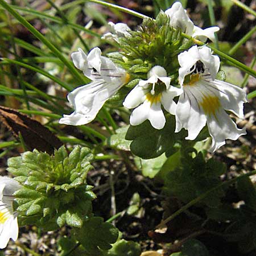
[[[187,15],[187,11],[183,9],[180,2],[175,2],[170,9],[164,12],[170,17],[170,26],[174,28],[181,28],[185,34],[193,38],[199,38],[202,42],[206,42],[207,38],[214,41],[214,32],[220,30],[219,27],[209,27],[204,30],[194,25]]]

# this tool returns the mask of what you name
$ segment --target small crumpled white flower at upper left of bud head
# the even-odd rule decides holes
[[[125,23],[116,23],[113,22],[108,23],[110,26],[110,32],[104,34],[101,38],[102,39],[114,39],[118,42],[118,38],[123,38],[125,36],[131,36],[130,32],[131,29]]]

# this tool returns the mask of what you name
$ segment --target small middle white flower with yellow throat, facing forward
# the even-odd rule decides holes
[[[139,84],[126,96],[123,105],[133,109],[131,125],[139,125],[148,119],[155,129],[162,129],[166,123],[161,104],[171,114],[175,114],[176,103],[172,100],[182,93],[182,90],[170,85],[163,67],[155,66],[147,74],[148,80]]]

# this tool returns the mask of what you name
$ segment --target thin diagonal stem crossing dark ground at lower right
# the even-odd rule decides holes
[[[174,214],[163,220],[158,226],[156,226],[156,229],[162,228],[167,222],[171,221],[175,217],[177,217],[180,213],[183,213],[185,210],[187,210],[189,207],[192,207],[192,205],[195,205],[196,203],[199,203],[201,200],[205,199],[205,197],[209,196],[211,193],[215,192],[218,188],[228,186],[230,184],[235,183],[238,179],[241,179],[242,177],[249,177],[256,174],[256,170],[248,172],[247,174],[242,174],[238,177],[235,177],[232,180],[224,181],[220,184],[218,184],[216,187],[209,189],[207,192],[203,193],[202,195],[196,197],[192,201],[190,201],[188,204],[181,207],[179,210],[177,210]]]

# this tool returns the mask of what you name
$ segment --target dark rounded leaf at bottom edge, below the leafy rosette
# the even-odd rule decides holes
[[[85,247],[91,256],[100,255],[100,250],[109,250],[110,245],[117,241],[118,229],[104,222],[101,217],[92,217],[84,222],[80,229],[75,229],[77,240]]]

